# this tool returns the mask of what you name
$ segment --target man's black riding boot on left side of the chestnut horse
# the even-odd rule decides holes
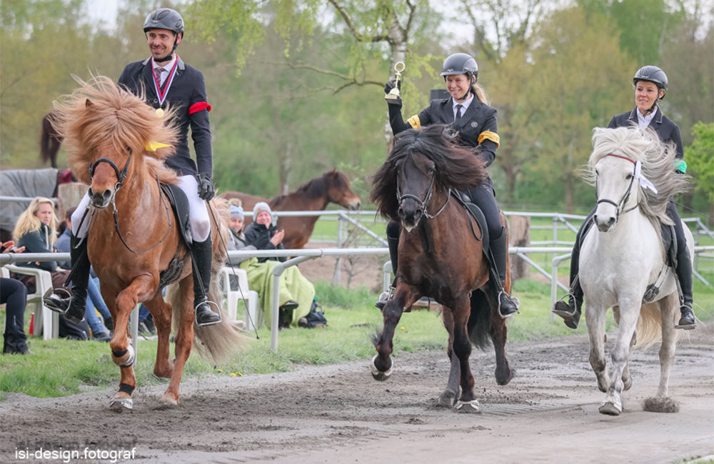
[[[89,255],[87,255],[87,238],[79,243],[79,238],[71,234],[69,239],[69,256],[71,258],[72,269],[72,295],[63,298],[56,290],[48,292],[43,298],[43,303],[47,308],[57,313],[64,314],[70,322],[79,324],[84,320],[84,312],[87,303],[87,286],[89,285]],[[67,283],[65,283],[65,286]]]

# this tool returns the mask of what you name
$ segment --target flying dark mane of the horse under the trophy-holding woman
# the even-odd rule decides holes
[[[370,200],[383,218],[399,221],[397,210],[398,166],[412,153],[421,153],[435,164],[435,187],[467,190],[486,179],[486,165],[468,148],[458,146],[449,126],[433,124],[421,130],[409,129],[394,137],[394,148],[372,178]]]

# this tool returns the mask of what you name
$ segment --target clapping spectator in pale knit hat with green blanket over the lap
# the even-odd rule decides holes
[[[283,250],[285,232],[273,226],[273,211],[262,201],[253,207],[253,222],[246,228],[246,244],[258,250]],[[273,268],[286,258],[249,258],[241,263],[248,273],[248,287],[261,296],[263,318],[271,326],[273,298]],[[278,328],[298,326],[298,321],[307,316],[315,298],[315,286],[300,273],[296,266],[286,268],[280,276],[280,313]]]

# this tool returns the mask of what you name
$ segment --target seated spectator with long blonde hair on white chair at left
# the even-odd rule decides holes
[[[30,206],[20,215],[12,235],[19,247],[25,247],[27,253],[53,253],[56,251],[56,217],[54,216],[54,201],[38,196],[30,202]],[[57,268],[57,261],[35,263],[17,263],[24,268],[39,268],[49,271],[52,277],[52,287],[56,291],[69,293],[64,283],[69,271]],[[27,288],[35,288],[34,276],[21,276],[19,281]],[[59,336],[76,340],[89,339],[89,326],[86,321],[79,324],[69,323],[64,316],[59,318]]]

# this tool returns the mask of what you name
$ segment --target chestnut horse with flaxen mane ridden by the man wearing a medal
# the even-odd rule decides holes
[[[171,378],[162,400],[178,403],[178,385],[183,366],[196,348],[215,362],[245,343],[225,317],[213,326],[194,328],[191,257],[181,237],[176,216],[159,183],[176,183],[176,173],[162,159],[173,148],[176,128],[170,121],[176,109],[157,116],[143,99],[97,76],[89,82],[78,79],[79,89],[55,102],[56,126],[64,136],[69,163],[79,180],[89,184],[90,207],[87,247],[89,260],[101,282],[101,294],[114,320],[112,360],[121,368],[119,392],[110,407],[121,412],[132,408],[136,387],[132,365],[136,358],[128,334],[129,315],[145,303],[154,316],[159,346],[154,374]],[[228,206],[222,199],[210,202],[213,278],[208,299],[219,303],[218,273],[226,259],[219,234],[228,233]],[[160,278],[175,271],[167,292],[161,296]],[[221,305],[218,304],[220,307]],[[171,323],[176,335],[176,360],[169,360]]]

